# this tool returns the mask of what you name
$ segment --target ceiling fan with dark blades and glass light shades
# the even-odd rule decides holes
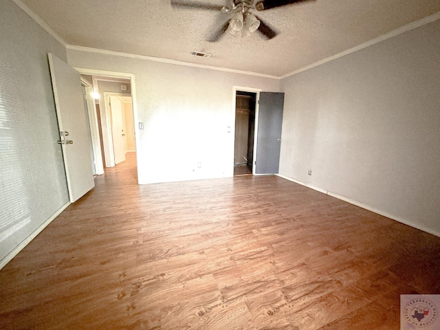
[[[221,39],[225,32],[230,32],[237,38],[248,36],[258,30],[267,40],[274,38],[277,34],[269,25],[264,23],[253,13],[261,12],[272,8],[292,5],[294,3],[316,1],[316,0],[228,0],[227,5],[216,5],[201,1],[171,0],[174,8],[187,8],[198,10],[216,10],[224,14],[230,14],[230,19],[221,28],[214,31],[208,41],[214,43]]]

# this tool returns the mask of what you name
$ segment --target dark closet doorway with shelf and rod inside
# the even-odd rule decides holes
[[[255,113],[257,94],[236,91],[234,176],[252,175],[254,164]]]

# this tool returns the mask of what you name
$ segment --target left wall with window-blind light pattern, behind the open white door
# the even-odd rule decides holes
[[[47,52],[66,61],[65,48],[10,0],[0,1],[0,45],[1,268],[69,195],[47,62]]]

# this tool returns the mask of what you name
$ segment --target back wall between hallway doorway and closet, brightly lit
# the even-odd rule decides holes
[[[144,122],[143,130],[135,125],[140,184],[231,177],[233,86],[279,91],[270,78],[78,50],[67,57],[73,67],[135,75],[135,120]]]

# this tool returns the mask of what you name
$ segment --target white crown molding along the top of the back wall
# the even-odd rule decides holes
[[[276,79],[276,80],[280,79],[280,77],[272,76],[270,74],[259,74],[258,72],[229,69],[227,67],[214,67],[212,65],[203,65],[203,64],[195,64],[195,63],[189,63],[189,62],[184,62],[184,61],[176,61],[176,60],[170,60],[168,58],[159,58],[159,57],[146,56],[146,55],[138,55],[138,54],[124,53],[124,52],[115,52],[113,50],[100,50],[98,48],[75,46],[75,45],[66,45],[66,48],[68,50],[77,50],[79,52],[89,52],[89,53],[95,53],[95,54],[119,56],[119,57],[125,57],[125,58],[134,58],[134,59],[142,60],[142,61],[168,63],[168,64],[173,64],[173,65],[182,65],[184,67],[197,67],[199,69],[209,69],[209,70],[214,70],[214,71],[228,72],[228,73],[232,73],[232,74],[245,74],[247,76],[256,76],[256,77],[261,77],[261,78],[270,78],[270,79]]]

